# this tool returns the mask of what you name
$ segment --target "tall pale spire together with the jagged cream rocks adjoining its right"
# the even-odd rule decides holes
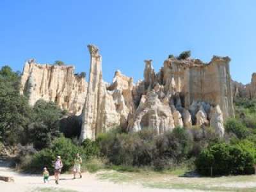
[[[86,101],[83,107],[83,123],[79,140],[95,139],[100,132],[121,126],[127,127],[129,113],[132,113],[132,78],[116,71],[113,83],[102,80],[102,58],[95,45],[88,45],[90,51],[90,76]]]

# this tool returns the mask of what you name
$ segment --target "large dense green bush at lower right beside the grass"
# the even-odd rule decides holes
[[[230,175],[253,173],[253,143],[216,143],[203,150],[197,157],[196,170],[202,175]]]

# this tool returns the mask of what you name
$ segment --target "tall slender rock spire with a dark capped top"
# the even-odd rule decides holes
[[[83,122],[79,138],[80,142],[86,138],[95,139],[102,90],[102,57],[99,54],[99,49],[95,45],[88,45],[88,49],[90,52],[90,76],[87,97],[82,113]]]

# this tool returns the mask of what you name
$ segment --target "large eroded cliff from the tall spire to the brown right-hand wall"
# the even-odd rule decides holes
[[[156,134],[174,127],[214,127],[223,136],[223,118],[234,116],[229,58],[214,56],[210,63],[168,58],[156,73],[145,60],[144,80],[116,71],[111,84],[102,80],[102,59],[95,45],[83,109],[80,141],[121,126],[127,131],[154,129]]]

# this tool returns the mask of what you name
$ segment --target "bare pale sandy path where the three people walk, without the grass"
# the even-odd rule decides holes
[[[49,184],[44,184],[42,176],[40,175],[25,175],[15,173],[8,167],[8,163],[0,160],[0,175],[12,176],[14,182],[0,181],[1,192],[29,192],[38,191],[39,188],[60,188],[72,189],[74,191],[86,192],[175,192],[175,191],[198,191],[198,190],[184,190],[184,189],[149,189],[143,188],[140,184],[114,184],[109,181],[102,181],[97,179],[95,174],[83,173],[82,179],[72,180],[72,175],[61,175],[60,184],[56,185],[54,177],[50,177]]]

